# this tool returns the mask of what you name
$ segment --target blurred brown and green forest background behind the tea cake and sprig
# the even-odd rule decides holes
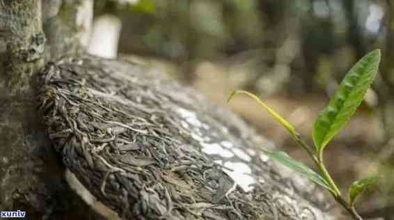
[[[325,158],[344,192],[356,178],[383,176],[357,208],[363,217],[394,219],[393,0],[95,1],[95,21],[119,31],[118,56],[152,65],[223,106],[235,89],[251,91],[309,143],[317,113],[347,70],[381,49],[379,76]],[[230,108],[311,164],[255,102],[237,97]]]

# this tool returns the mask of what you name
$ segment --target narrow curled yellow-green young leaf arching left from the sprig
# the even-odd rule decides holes
[[[296,132],[294,131],[294,127],[292,125],[290,125],[290,123],[288,123],[287,120],[285,120],[285,118],[282,118],[281,116],[279,116],[278,113],[276,113],[273,109],[268,107],[267,104],[262,102],[262,100],[260,100],[259,97],[257,97],[256,95],[253,95],[252,93],[249,93],[247,91],[234,91],[233,93],[231,93],[230,97],[228,97],[227,102],[230,102],[230,100],[234,97],[234,95],[238,95],[238,94],[245,94],[245,95],[248,95],[249,97],[253,98],[253,100],[255,100],[256,102],[258,102],[258,104],[260,104],[262,109],[267,111],[272,116],[272,118],[274,118],[279,124],[281,124],[283,127],[285,127],[285,129],[287,130],[287,132],[290,133],[290,135],[292,135],[292,136],[296,135]]]

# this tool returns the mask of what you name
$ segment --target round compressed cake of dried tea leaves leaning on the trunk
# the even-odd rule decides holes
[[[321,189],[271,164],[255,148],[268,141],[197,91],[93,56],[51,63],[41,82],[63,162],[123,219],[333,218]],[[234,180],[226,162],[247,174]],[[249,191],[242,178],[253,178]]]

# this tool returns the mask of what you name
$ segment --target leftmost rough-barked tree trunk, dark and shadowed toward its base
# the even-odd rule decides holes
[[[0,1],[0,210],[26,211],[27,219],[87,219],[36,111],[33,76],[44,65],[41,22],[40,1]]]

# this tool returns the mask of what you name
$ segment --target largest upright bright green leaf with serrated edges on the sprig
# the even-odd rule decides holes
[[[347,72],[340,83],[338,92],[331,98],[328,106],[317,116],[313,128],[313,141],[317,152],[322,152],[356,111],[377,74],[379,61],[379,49],[361,58]]]

